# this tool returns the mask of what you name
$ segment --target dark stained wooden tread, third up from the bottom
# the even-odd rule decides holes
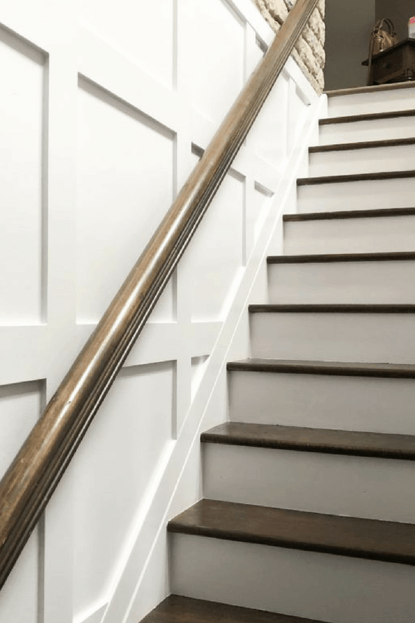
[[[225,422],[201,434],[202,443],[415,460],[415,435]]]

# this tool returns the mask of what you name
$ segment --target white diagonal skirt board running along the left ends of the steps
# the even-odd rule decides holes
[[[308,147],[316,141],[318,120],[326,116],[326,96],[317,97],[292,59],[284,71],[311,95],[311,105],[295,128],[291,156],[286,159],[255,246],[228,301],[219,337],[180,434],[165,451],[149,485],[145,509],[134,523],[100,623],[136,623],[169,595],[167,521],[202,498],[199,437],[201,431],[228,419],[226,363],[250,354],[248,305],[266,302],[265,259],[282,251],[282,215],[297,210],[296,180],[307,174]],[[102,602],[97,608],[102,612]],[[95,623],[95,615],[96,611],[91,612],[82,621]]]

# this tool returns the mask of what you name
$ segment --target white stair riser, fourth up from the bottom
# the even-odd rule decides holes
[[[251,355],[415,363],[415,314],[250,314]]]

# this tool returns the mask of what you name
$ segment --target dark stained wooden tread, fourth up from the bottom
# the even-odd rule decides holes
[[[404,363],[344,363],[344,361],[302,361],[297,359],[244,359],[230,361],[228,372],[278,374],[326,374],[338,377],[382,377],[415,379],[415,365]]]

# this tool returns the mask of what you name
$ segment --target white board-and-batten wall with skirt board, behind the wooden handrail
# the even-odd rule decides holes
[[[250,0],[75,8],[0,10],[1,473],[273,36]],[[255,279],[264,296],[317,105],[289,60],[0,593],[0,623],[136,623],[167,594],[165,523],[200,497],[198,431],[226,418],[225,361],[248,353],[245,306]]]

